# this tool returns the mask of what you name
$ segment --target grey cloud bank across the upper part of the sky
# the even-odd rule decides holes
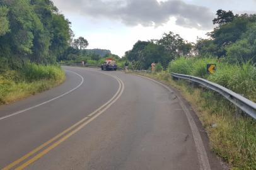
[[[209,8],[187,4],[181,0],[54,0],[64,11],[80,13],[97,20],[108,18],[120,20],[128,26],[160,26],[177,19],[176,24],[187,28],[209,30],[212,28],[214,14]]]

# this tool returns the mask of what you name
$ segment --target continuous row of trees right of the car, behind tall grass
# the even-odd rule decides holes
[[[138,41],[125,52],[136,69],[148,69],[152,62],[164,69],[177,57],[216,57],[227,62],[256,62],[256,14],[233,14],[219,9],[212,23],[209,38],[198,38],[190,43],[173,32],[164,33],[160,40]]]

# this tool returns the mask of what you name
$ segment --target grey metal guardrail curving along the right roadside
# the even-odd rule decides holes
[[[217,93],[224,96],[224,98],[228,99],[231,103],[236,105],[241,110],[245,111],[248,115],[252,116],[256,120],[256,103],[250,101],[249,99],[237,94],[230,89],[224,88],[223,86],[216,84],[211,81],[207,81],[206,79],[202,79],[200,77],[189,76],[185,74],[177,74],[172,72],[172,76],[178,79],[185,79],[192,82],[197,82],[202,86],[205,86],[208,89],[212,89]]]

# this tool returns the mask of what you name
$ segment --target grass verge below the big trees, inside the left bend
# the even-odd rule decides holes
[[[65,73],[57,65],[26,64],[19,71],[0,74],[0,105],[48,90],[64,82]]]

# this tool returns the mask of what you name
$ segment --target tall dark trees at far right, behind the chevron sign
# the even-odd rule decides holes
[[[217,11],[218,24],[208,33],[209,39],[197,40],[195,48],[200,55],[225,57],[228,62],[256,62],[256,14],[236,14],[232,11]]]

